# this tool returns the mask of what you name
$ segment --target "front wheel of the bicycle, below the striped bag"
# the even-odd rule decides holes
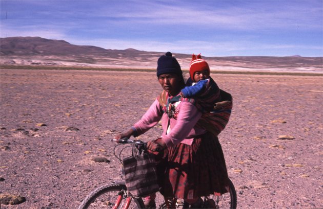
[[[107,184],[90,193],[78,209],[87,208],[145,208],[141,198],[129,197],[125,184]]]

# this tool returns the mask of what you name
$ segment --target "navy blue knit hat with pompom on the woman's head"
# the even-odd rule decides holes
[[[160,56],[157,61],[157,77],[161,74],[174,73],[182,75],[180,66],[175,57],[172,57],[172,53],[167,52],[165,55]]]

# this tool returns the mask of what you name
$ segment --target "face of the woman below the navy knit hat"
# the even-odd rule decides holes
[[[161,87],[171,96],[176,96],[181,90],[181,87],[183,87],[180,76],[177,74],[161,74],[158,76],[158,81]]]

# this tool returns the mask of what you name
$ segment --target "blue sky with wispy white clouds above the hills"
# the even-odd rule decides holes
[[[323,56],[323,0],[0,0],[0,36],[202,56]]]

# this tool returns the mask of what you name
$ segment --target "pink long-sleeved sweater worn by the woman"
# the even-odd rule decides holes
[[[133,128],[137,131],[137,135],[145,133],[161,119],[161,126],[163,126],[164,130],[161,137],[167,147],[178,143],[192,145],[195,136],[206,132],[205,129],[195,126],[202,113],[190,102],[183,101],[177,102],[176,104],[178,104],[176,107],[176,111],[178,111],[177,120],[174,118],[169,119],[167,113],[163,113],[161,110],[159,102],[156,99],[143,115],[142,119],[133,125]],[[168,122],[170,122],[170,130],[167,130]]]

